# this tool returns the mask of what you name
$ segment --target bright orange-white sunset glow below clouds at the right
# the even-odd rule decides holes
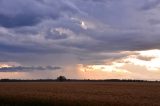
[[[146,50],[146,51],[127,51],[126,57],[113,60],[110,64],[103,65],[85,65],[78,64],[78,70],[86,73],[86,76],[91,77],[91,73],[107,73],[111,78],[122,78],[121,75],[127,78],[154,78],[160,77],[160,50]],[[89,74],[87,74],[89,73]],[[137,77],[138,76],[138,77]],[[156,76],[156,77],[155,77]],[[99,77],[102,78],[102,77]]]

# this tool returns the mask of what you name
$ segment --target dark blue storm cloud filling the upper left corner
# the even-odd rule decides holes
[[[0,25],[7,28],[33,26],[45,19],[58,19],[61,12],[76,12],[61,1],[1,0]]]

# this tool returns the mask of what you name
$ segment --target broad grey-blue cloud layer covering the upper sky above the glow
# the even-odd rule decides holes
[[[123,56],[119,51],[160,49],[159,4],[159,0],[0,0],[0,60],[26,61],[24,57],[36,54],[52,55],[55,62],[57,55],[70,54],[80,62],[99,63]]]

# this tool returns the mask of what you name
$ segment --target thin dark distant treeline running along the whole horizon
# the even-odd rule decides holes
[[[148,80],[131,80],[131,79],[105,79],[105,80],[90,80],[90,79],[36,79],[36,80],[23,80],[23,79],[0,79],[0,82],[160,82]]]

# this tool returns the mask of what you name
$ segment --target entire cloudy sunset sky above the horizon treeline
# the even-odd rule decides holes
[[[0,0],[0,79],[160,80],[160,0]]]

